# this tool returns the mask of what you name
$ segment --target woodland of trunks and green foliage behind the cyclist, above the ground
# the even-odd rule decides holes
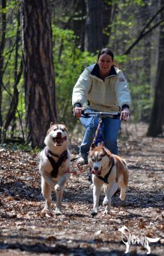
[[[131,122],[163,136],[164,0],[1,0],[0,141],[43,147],[50,122],[70,131],[71,93],[110,46],[131,92]]]

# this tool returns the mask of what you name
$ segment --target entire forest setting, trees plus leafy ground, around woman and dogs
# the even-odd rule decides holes
[[[160,237],[164,247],[164,0],[0,0],[0,255],[122,256],[118,228]],[[130,172],[127,198],[112,197],[110,214],[91,217],[89,167],[76,161],[63,195],[63,215],[43,214],[38,162],[50,122],[64,122],[71,157],[81,143],[71,113],[78,76],[110,46],[131,92],[131,118],[122,124],[119,153]],[[80,135],[79,135],[80,134]],[[17,145],[13,142],[21,142]],[[9,144],[11,143],[11,144]],[[31,150],[33,147],[33,150]],[[141,244],[127,255],[145,255]]]

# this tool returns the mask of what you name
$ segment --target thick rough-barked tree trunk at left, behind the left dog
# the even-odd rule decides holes
[[[22,0],[20,6],[27,113],[27,143],[42,148],[50,122],[56,122],[49,0]]]

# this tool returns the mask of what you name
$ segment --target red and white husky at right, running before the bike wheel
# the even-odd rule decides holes
[[[128,188],[128,168],[126,162],[119,156],[112,154],[104,143],[95,146],[92,143],[88,163],[91,168],[93,179],[93,211],[92,216],[98,214],[98,204],[100,199],[101,188],[103,186],[105,198],[105,214],[109,213],[112,195],[121,188],[120,199],[126,197],[126,189]]]

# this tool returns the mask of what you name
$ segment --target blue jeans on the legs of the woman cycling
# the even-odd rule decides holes
[[[96,129],[98,127],[98,117],[81,117],[80,122],[86,128],[82,144],[80,145],[80,154],[86,160],[91,143],[93,142]],[[105,147],[112,152],[118,154],[117,137],[121,126],[119,118],[103,118],[103,142]]]

